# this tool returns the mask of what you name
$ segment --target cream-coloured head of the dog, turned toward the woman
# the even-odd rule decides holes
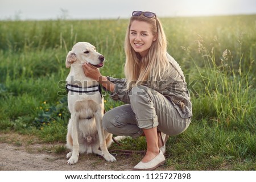
[[[96,48],[87,42],[79,42],[73,46],[68,52],[66,58],[66,67],[71,67],[71,64],[84,64],[88,62],[96,68],[104,66],[104,56],[96,51]]]

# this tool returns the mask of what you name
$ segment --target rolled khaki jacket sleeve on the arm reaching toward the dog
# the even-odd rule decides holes
[[[110,97],[113,100],[119,100],[122,102],[125,102],[126,104],[130,104],[129,99],[129,90],[126,88],[126,81],[125,78],[113,78],[107,76],[108,80],[111,81],[113,84],[115,84],[115,90],[114,92],[110,93]]]

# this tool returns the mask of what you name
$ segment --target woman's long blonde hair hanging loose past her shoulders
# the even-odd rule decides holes
[[[151,31],[157,39],[152,43],[148,53],[143,58],[134,51],[130,44],[130,27],[134,20],[147,22],[151,25]],[[163,78],[163,73],[168,65],[167,40],[163,27],[158,18],[147,18],[143,14],[131,16],[125,38],[125,77],[127,89],[135,85],[152,85]],[[151,87],[151,86],[150,86]]]

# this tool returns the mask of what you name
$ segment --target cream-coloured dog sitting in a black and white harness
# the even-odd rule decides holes
[[[84,75],[82,64],[85,62],[100,68],[104,65],[104,56],[90,43],[76,43],[66,59],[66,67],[71,67],[66,79],[68,108],[71,112],[67,147],[72,150],[67,154],[69,158],[67,163],[77,163],[79,153],[84,152],[98,154],[108,162],[114,162],[116,159],[108,151],[108,147],[113,142],[112,134],[104,131],[102,127],[104,98],[98,82]]]

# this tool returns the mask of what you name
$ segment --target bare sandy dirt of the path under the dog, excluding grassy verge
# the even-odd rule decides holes
[[[118,162],[109,163],[99,156],[81,155],[79,162],[72,166],[68,165],[64,154],[54,154],[42,151],[48,148],[42,144],[33,144],[29,147],[14,146],[13,144],[0,144],[0,170],[130,170],[133,166],[127,164],[127,159],[119,159]],[[126,163],[126,164],[122,164]]]

